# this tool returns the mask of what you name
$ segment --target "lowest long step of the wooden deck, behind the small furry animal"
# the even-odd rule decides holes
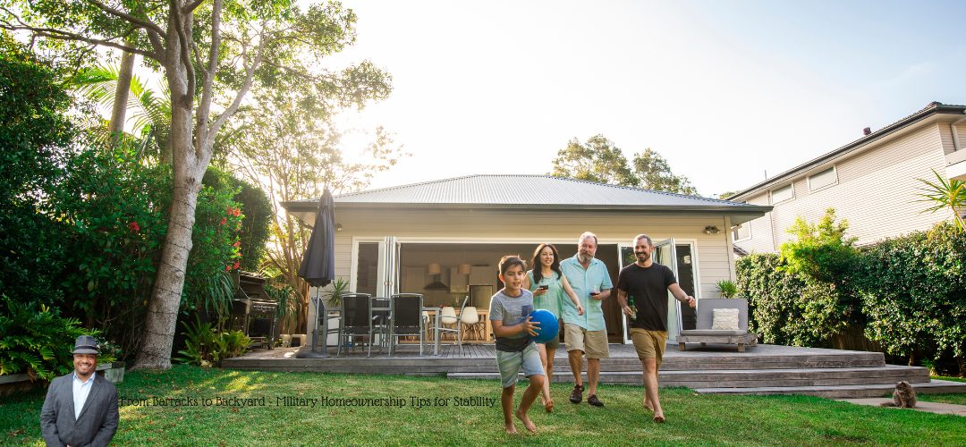
[[[966,383],[932,379],[913,385],[917,394],[966,393]],[[696,388],[698,394],[804,394],[823,398],[876,398],[888,396],[895,384],[832,386],[762,386],[756,388]]]

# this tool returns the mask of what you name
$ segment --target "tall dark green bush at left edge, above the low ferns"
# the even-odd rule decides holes
[[[65,173],[70,106],[56,73],[0,34],[0,291],[24,303],[62,298],[54,278],[64,265],[63,229],[37,204]]]

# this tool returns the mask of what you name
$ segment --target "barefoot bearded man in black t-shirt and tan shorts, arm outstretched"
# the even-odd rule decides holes
[[[668,292],[678,301],[695,307],[695,297],[677,285],[667,265],[654,264],[654,244],[647,235],[634,237],[637,262],[621,268],[617,276],[617,302],[624,314],[632,316],[631,339],[643,365],[644,406],[654,412],[654,422],[664,422],[664,410],[658,400],[658,368],[668,343]],[[634,297],[637,314],[628,306],[627,296]]]

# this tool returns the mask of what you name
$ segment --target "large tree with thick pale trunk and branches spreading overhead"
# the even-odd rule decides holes
[[[355,42],[355,14],[338,3],[302,11],[288,0],[5,0],[0,27],[34,39],[140,54],[171,93],[172,206],[145,340],[135,368],[170,368],[194,210],[215,136],[255,85],[312,91],[361,107],[388,94],[369,63],[329,72],[316,61]]]

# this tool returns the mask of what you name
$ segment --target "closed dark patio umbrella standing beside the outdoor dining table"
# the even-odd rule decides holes
[[[312,228],[312,236],[308,239],[308,247],[302,254],[301,265],[298,266],[298,276],[307,283],[315,287],[315,334],[312,339],[311,352],[298,352],[298,357],[326,357],[327,356],[327,328],[324,318],[326,315],[326,305],[319,299],[319,290],[326,287],[335,278],[335,253],[332,245],[335,243],[335,205],[332,202],[332,194],[328,188],[322,193],[319,199],[319,212],[315,217],[315,226]],[[322,330],[322,352],[316,352],[315,346],[319,339],[319,318],[323,316]]]

